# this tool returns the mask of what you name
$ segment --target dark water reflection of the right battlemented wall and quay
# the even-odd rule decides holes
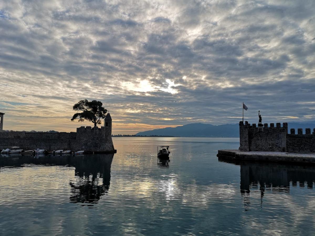
[[[260,190],[261,205],[266,191],[274,193],[289,193],[290,185],[299,183],[300,188],[312,189],[315,181],[313,166],[292,165],[266,162],[233,161],[219,157],[219,161],[240,165],[240,192],[244,198],[245,210],[249,209],[251,189]]]

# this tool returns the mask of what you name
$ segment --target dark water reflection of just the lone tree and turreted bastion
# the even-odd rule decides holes
[[[76,181],[71,186],[70,202],[98,203],[108,193],[113,154],[93,155],[75,160]]]

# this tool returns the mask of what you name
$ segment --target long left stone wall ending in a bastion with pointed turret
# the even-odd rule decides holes
[[[106,126],[107,125],[107,126]],[[0,149],[13,146],[24,150],[45,149],[45,150],[73,150],[73,151],[94,151],[113,153],[112,141],[112,118],[108,113],[104,119],[104,126],[91,127],[81,126],[77,132],[25,132],[9,131],[0,132]]]

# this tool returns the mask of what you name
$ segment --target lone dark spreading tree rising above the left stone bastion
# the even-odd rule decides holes
[[[84,99],[79,101],[78,103],[73,105],[73,110],[82,111],[74,114],[71,118],[71,121],[75,119],[79,119],[79,122],[83,122],[84,120],[91,121],[94,123],[94,127],[97,124],[101,124],[100,119],[104,119],[106,116],[107,110],[102,107],[102,103],[100,101],[93,100],[89,102]]]

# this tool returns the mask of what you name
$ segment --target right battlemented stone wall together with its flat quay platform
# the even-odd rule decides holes
[[[250,125],[247,121],[239,122],[240,145],[238,150],[218,150],[219,158],[233,160],[255,160],[296,162],[315,164],[315,129],[311,133],[306,128],[305,134],[302,129],[290,129],[288,123],[271,123]]]

